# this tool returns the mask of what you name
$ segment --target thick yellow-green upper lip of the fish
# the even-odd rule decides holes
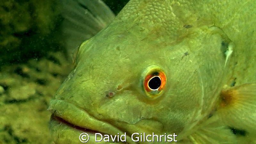
[[[71,127],[77,127],[78,129],[82,128],[85,130],[89,130],[93,133],[99,132],[101,134],[107,135],[117,135],[117,133],[119,133],[119,135],[124,134],[123,131],[121,131],[114,125],[94,118],[93,116],[89,115],[86,111],[76,107],[74,104],[69,103],[65,100],[51,100],[48,110],[50,110],[50,112],[52,113],[51,119],[54,117],[61,118],[68,124],[73,125]],[[74,111],[76,111],[77,113],[74,113]],[[76,120],[78,118],[81,119]],[[86,123],[84,124],[84,122]],[[90,134],[92,134],[91,132]],[[132,138],[127,134],[126,142],[130,144],[136,144],[136,142],[134,142]]]

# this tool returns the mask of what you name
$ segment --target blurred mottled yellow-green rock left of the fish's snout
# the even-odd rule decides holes
[[[49,101],[71,71],[62,52],[0,70],[0,143],[52,143]]]

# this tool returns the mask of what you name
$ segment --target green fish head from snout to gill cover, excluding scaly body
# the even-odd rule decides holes
[[[76,68],[55,99],[128,135],[185,133],[216,102],[225,74],[223,41],[208,26],[175,30],[116,20],[81,44]],[[63,105],[57,116],[70,118],[65,111]],[[76,119],[68,122],[102,132],[80,113],[73,111]]]

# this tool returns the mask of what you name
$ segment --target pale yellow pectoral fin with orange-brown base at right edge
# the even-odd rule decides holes
[[[230,127],[256,135],[256,84],[231,87],[220,94],[217,115]]]

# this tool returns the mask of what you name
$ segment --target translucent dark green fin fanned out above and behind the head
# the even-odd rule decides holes
[[[69,57],[78,46],[114,20],[115,14],[101,0],[62,0],[62,35]]]

